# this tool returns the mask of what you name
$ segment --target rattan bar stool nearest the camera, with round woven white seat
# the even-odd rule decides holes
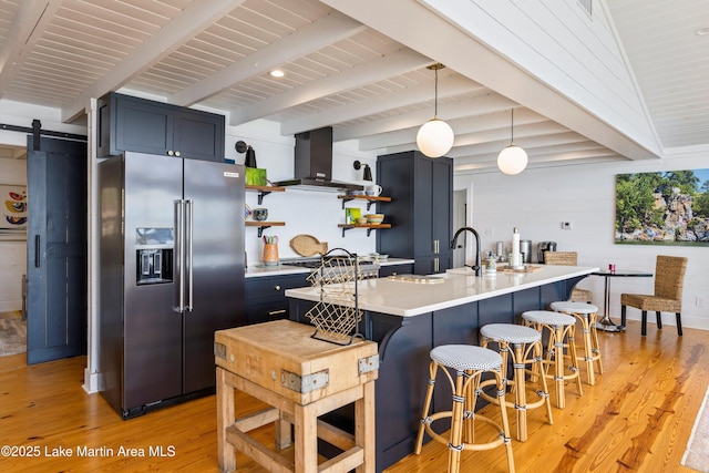
[[[507,423],[507,412],[504,407],[505,382],[502,378],[502,357],[500,353],[470,345],[442,345],[431,350],[431,364],[429,366],[430,379],[421,414],[421,425],[417,438],[417,455],[421,453],[423,434],[428,433],[432,440],[449,445],[448,471],[460,472],[461,452],[463,450],[490,450],[503,445],[507,452],[507,469],[514,473],[514,459],[512,456],[512,442],[510,439],[510,425]],[[443,367],[451,390],[453,391],[453,410],[435,412],[429,415],[435,376],[439,367]],[[455,370],[455,379],[448,369]],[[475,402],[481,377],[485,372],[494,376],[497,389],[500,414],[502,417],[502,428],[493,420],[475,414]],[[450,438],[436,433],[431,428],[431,423],[439,419],[451,418]],[[473,423],[480,420],[497,430],[497,439],[486,443],[473,443]],[[464,429],[464,432],[463,432]]]

